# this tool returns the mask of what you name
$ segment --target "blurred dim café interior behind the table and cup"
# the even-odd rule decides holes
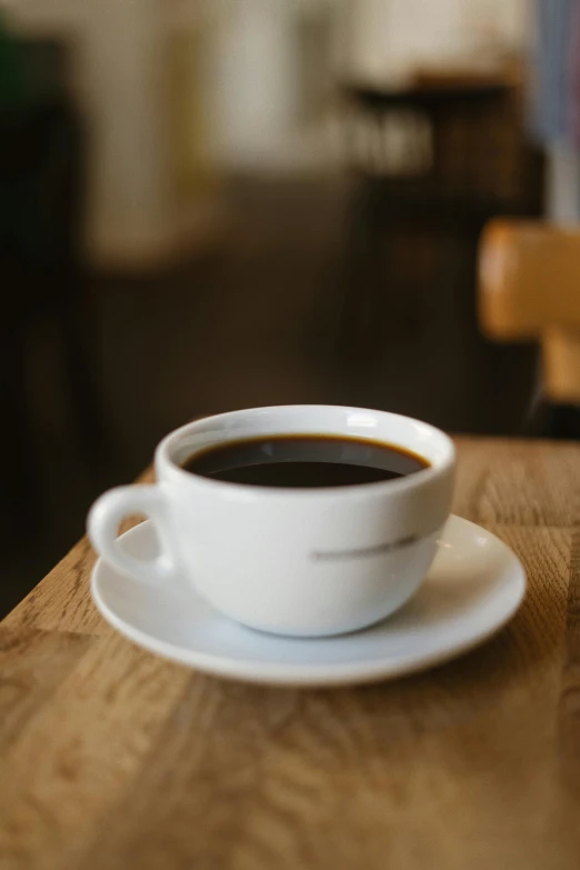
[[[0,616],[199,414],[574,434],[576,6],[0,2]]]

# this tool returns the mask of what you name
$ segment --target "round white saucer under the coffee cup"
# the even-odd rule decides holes
[[[150,522],[122,536],[133,556],[151,558]],[[232,622],[191,588],[146,586],[99,560],[91,590],[102,616],[140,647],[200,671],[251,682],[334,686],[391,679],[474,647],[516,612],[526,573],[494,534],[451,517],[429,576],[394,616],[334,638],[292,639]]]

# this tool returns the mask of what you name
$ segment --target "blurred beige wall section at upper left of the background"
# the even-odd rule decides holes
[[[90,259],[158,261],[176,243],[164,134],[163,0],[1,0],[23,32],[70,38],[90,132]]]

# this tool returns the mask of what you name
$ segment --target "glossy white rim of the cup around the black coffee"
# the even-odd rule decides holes
[[[329,410],[329,411],[347,411],[349,413],[372,413],[372,414],[379,414],[379,416],[387,416],[391,418],[398,418],[400,420],[404,420],[409,423],[419,423],[420,426],[424,427],[427,430],[430,430],[434,437],[440,439],[444,447],[447,448],[446,456],[441,459],[431,460],[429,459],[429,467],[421,469],[420,471],[416,471],[412,474],[407,474],[404,477],[396,478],[394,480],[386,480],[386,481],[378,481],[373,483],[357,483],[357,484],[349,484],[349,486],[338,486],[338,487],[309,487],[308,489],[292,489],[291,487],[262,487],[257,484],[248,484],[248,483],[236,483],[230,482],[226,480],[216,480],[212,478],[206,478],[201,474],[197,474],[193,471],[186,471],[171,456],[171,451],[174,449],[176,443],[179,442],[189,431],[194,429],[197,426],[199,426],[202,422],[207,422],[208,420],[216,420],[224,421],[228,418],[233,417],[244,417],[246,414],[257,414],[259,412],[263,411],[288,411],[288,410],[294,410],[297,412],[299,411],[307,411],[318,409],[321,411]],[[324,434],[323,429],[321,431],[312,432],[313,434]],[[329,434],[336,434],[332,432],[329,432]],[[349,436],[346,434],[346,438]],[[381,441],[382,439],[377,439]],[[384,443],[389,443],[388,441],[384,441]],[[401,444],[404,447],[403,444]],[[408,449],[413,450],[417,456],[422,457],[420,450],[417,450],[414,447],[407,446]],[[427,459],[427,457],[426,457]],[[407,414],[400,414],[396,413],[393,411],[381,411],[377,409],[370,409],[370,408],[359,408],[359,407],[351,407],[351,406],[342,406],[342,404],[273,404],[273,406],[262,406],[257,408],[243,408],[234,411],[224,411],[222,413],[217,414],[208,414],[207,417],[200,417],[196,420],[191,420],[190,422],[186,423],[184,426],[179,427],[178,429],[174,429],[173,431],[169,432],[158,444],[154,454],[154,463],[156,469],[159,473],[161,469],[169,470],[171,473],[171,477],[174,480],[180,480],[182,482],[193,483],[197,487],[203,487],[207,488],[208,491],[213,491],[214,493],[231,493],[234,494],[237,498],[246,497],[248,499],[256,499],[256,498],[269,498],[269,499],[316,499],[316,498],[360,498],[360,497],[369,497],[369,496],[383,496],[386,493],[399,493],[404,492],[407,490],[416,489],[418,486],[421,486],[423,483],[428,483],[430,480],[433,480],[434,478],[446,473],[447,471],[451,470],[456,462],[456,447],[453,444],[452,439],[446,434],[441,429],[438,429],[436,426],[432,426],[431,423],[427,423],[423,420],[418,420],[417,418],[409,417]]]

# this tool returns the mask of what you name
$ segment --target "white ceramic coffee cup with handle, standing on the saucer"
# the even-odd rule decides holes
[[[423,457],[394,480],[329,489],[277,489],[203,478],[180,463],[227,441],[273,434],[369,438]],[[359,408],[287,406],[197,420],[161,441],[154,486],[101,496],[89,534],[121,573],[183,583],[217,610],[263,631],[337,634],[400,608],[422,582],[449,516],[452,441],[408,417]],[[161,554],[143,562],[117,539],[131,513],[153,521]]]

